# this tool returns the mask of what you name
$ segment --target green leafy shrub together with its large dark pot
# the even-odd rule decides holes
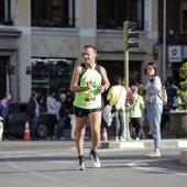
[[[179,68],[178,110],[169,112],[170,125],[178,138],[187,136],[187,62]]]

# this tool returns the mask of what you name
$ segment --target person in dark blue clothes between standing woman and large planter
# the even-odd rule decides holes
[[[178,87],[175,85],[174,77],[167,77],[167,86],[166,86],[166,94],[167,94],[167,102],[163,107],[163,114],[161,120],[161,131],[164,129],[165,124],[169,122],[169,114],[170,110],[176,110],[178,108],[179,97],[177,96]]]

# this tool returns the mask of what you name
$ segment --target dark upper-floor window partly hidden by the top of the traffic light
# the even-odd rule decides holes
[[[144,0],[97,0],[97,29],[122,30],[124,21],[143,30]]]

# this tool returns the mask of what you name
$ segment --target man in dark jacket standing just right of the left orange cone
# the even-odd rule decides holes
[[[30,119],[30,132],[31,132],[31,139],[32,140],[37,140],[36,138],[36,125],[37,125],[37,119],[38,119],[38,112],[40,112],[40,107],[37,102],[37,92],[33,91],[31,95],[31,99],[28,102],[26,107],[26,116],[31,117]]]

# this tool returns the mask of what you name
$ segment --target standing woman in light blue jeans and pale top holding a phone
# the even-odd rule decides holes
[[[155,63],[151,62],[146,65],[146,73],[148,76],[146,86],[136,82],[141,92],[145,95],[148,124],[154,141],[154,150],[145,156],[158,157],[161,156],[161,117],[163,112],[162,82],[157,76],[157,65]]]

